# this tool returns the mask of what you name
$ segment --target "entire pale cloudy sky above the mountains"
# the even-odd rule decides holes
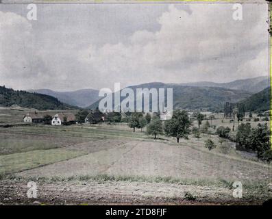
[[[0,5],[0,85],[77,90],[269,74],[267,4]]]

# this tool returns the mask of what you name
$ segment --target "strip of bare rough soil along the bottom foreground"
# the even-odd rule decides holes
[[[38,181],[37,198],[27,198],[27,181],[0,181],[0,204],[17,205],[260,205],[267,196],[233,198],[232,190],[212,186],[130,181]],[[247,192],[245,192],[247,193]],[[189,194],[189,196],[188,196]],[[188,197],[195,197],[190,200]]]

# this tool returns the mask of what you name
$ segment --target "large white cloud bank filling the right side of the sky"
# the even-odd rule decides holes
[[[90,45],[80,51],[80,60],[123,86],[264,75],[267,54],[256,57],[256,52],[267,47],[266,15],[254,7],[245,6],[244,20],[234,21],[231,5],[190,5],[191,14],[169,5],[158,18],[158,31],[135,31],[129,42]],[[252,57],[243,55],[247,51]],[[254,68],[241,67],[248,62],[254,62]]]

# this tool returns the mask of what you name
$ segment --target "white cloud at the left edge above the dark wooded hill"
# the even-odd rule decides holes
[[[0,12],[0,21],[0,81],[16,88],[49,81],[51,75],[36,47],[32,24],[12,12]]]

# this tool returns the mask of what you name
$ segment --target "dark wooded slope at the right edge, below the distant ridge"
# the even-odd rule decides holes
[[[270,88],[265,88],[261,92],[240,101],[240,103],[244,103],[245,109],[249,112],[264,112],[270,109],[270,97]]]

